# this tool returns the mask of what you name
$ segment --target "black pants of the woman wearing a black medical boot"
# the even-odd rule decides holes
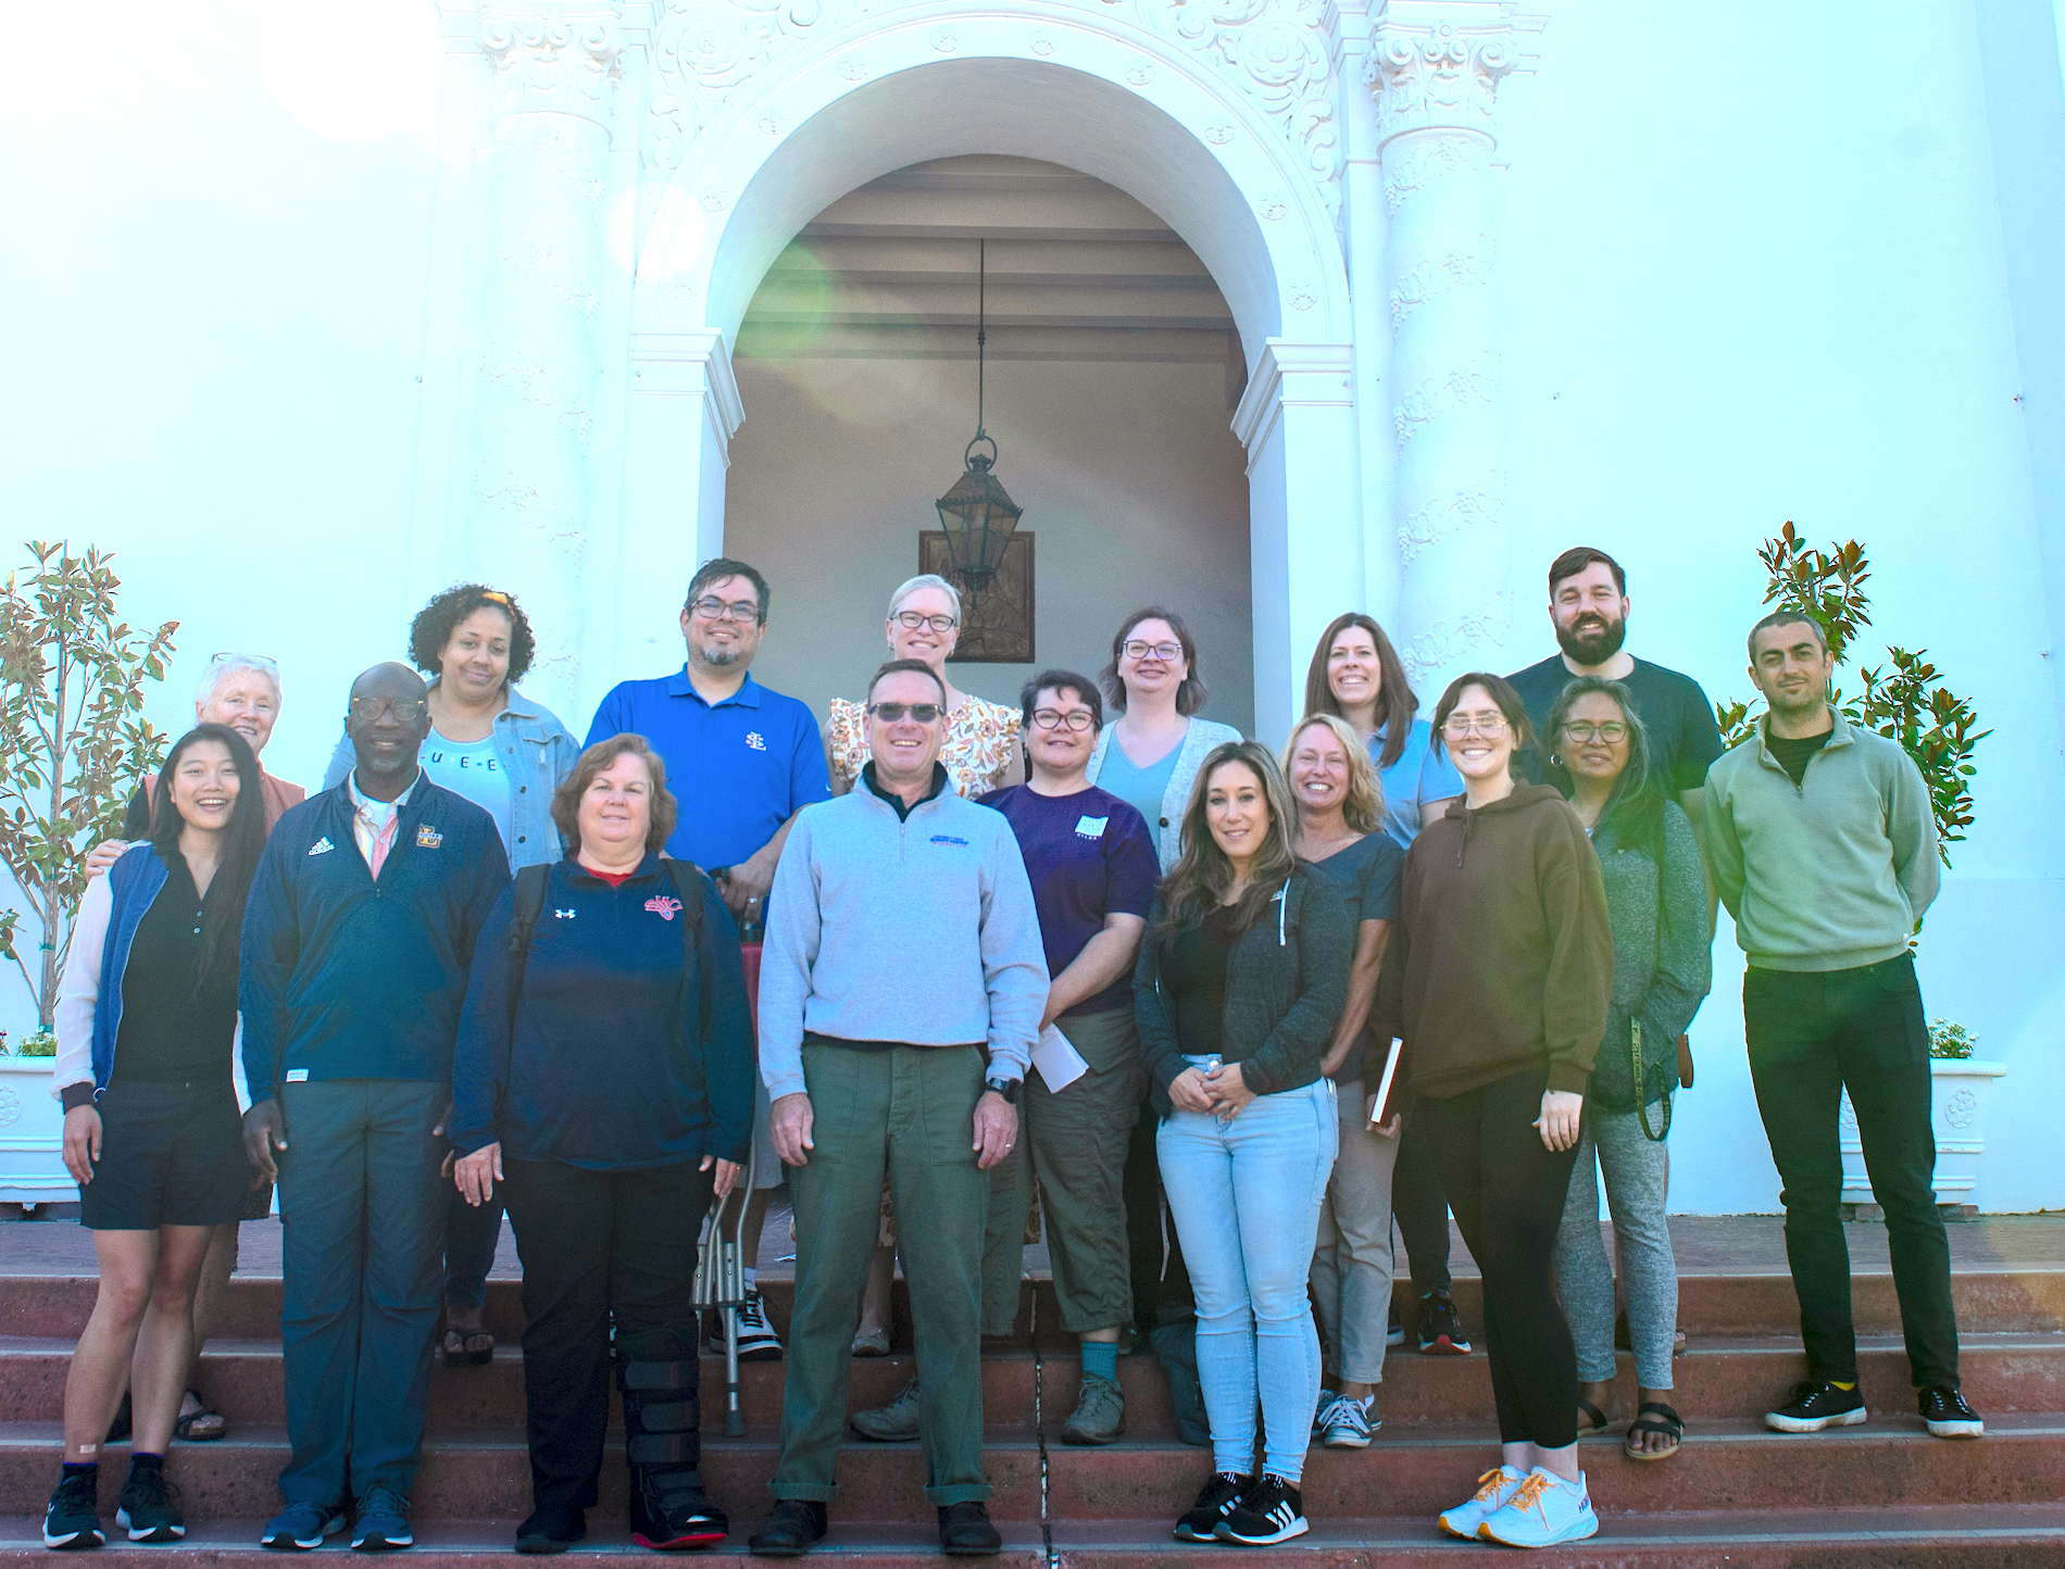
[[[694,1160],[650,1171],[504,1160],[504,1171],[522,1257],[533,1507],[595,1503],[609,1429],[611,1315],[626,1371],[630,1365],[679,1369],[667,1383],[646,1379],[636,1394],[626,1387],[626,1429],[634,1424],[634,1402],[665,1400],[671,1437],[657,1443],[653,1458],[669,1468],[694,1468],[700,1460],[696,1239],[714,1173],[696,1171]],[[686,1410],[675,1410],[679,1406]],[[640,1453],[632,1453],[638,1445],[630,1441],[642,1435],[626,1435],[634,1466]]]

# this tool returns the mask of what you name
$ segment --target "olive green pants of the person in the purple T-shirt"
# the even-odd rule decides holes
[[[1090,1071],[1061,1092],[1039,1069],[1018,1096],[1018,1146],[989,1173],[983,1334],[1012,1332],[1024,1276],[1024,1222],[1039,1179],[1041,1220],[1061,1327],[1115,1330],[1134,1317],[1125,1257],[1125,1142],[1146,1094],[1134,1010],[1063,1018]],[[1051,1327],[1051,1325],[1049,1325]]]

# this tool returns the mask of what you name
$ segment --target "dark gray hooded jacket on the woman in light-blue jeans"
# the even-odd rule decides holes
[[[1158,931],[1163,915],[1163,902],[1154,900],[1134,964],[1134,1020],[1148,1069],[1148,1098],[1167,1117],[1169,1086],[1189,1063],[1175,1034],[1175,1003],[1161,979],[1167,948]],[[1320,1059],[1348,1003],[1353,958],[1348,906],[1324,873],[1299,865],[1282,894],[1235,937],[1227,954],[1227,1061],[1241,1065],[1249,1090],[1282,1094],[1320,1078]]]

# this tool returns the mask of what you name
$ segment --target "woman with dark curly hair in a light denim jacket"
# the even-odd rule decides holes
[[[560,861],[551,795],[580,758],[566,725],[516,690],[535,650],[522,607],[479,582],[446,588],[409,626],[409,663],[432,677],[423,772],[496,820],[512,873]],[[322,789],[343,784],[355,760],[351,739],[341,739]],[[502,1202],[473,1208],[452,1191],[444,1220],[444,1363],[481,1367],[496,1354],[481,1313]]]

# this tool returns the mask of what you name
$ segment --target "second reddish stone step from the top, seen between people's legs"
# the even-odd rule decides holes
[[[2065,1410],[2065,1336],[1964,1336],[1960,1367],[1966,1398],[1984,1414]],[[0,1412],[19,1420],[56,1422],[64,1414],[64,1375],[72,1342],[60,1338],[0,1336]],[[1633,1358],[1619,1358],[1615,1396],[1633,1416]],[[983,1410],[993,1422],[1032,1422],[1032,1354],[989,1350],[983,1358]],[[857,1358],[849,1410],[892,1400],[917,1371],[911,1354]],[[1799,1342],[1714,1340],[1695,1342],[1673,1363],[1671,1404],[1687,1418],[1761,1416],[1797,1379],[1807,1375]],[[1858,1375],[1873,1410],[1912,1412],[1908,1360],[1892,1336],[1858,1342]],[[1076,1406],[1080,1365],[1072,1346],[1045,1352],[1043,1398],[1051,1429]],[[781,1422],[785,1363],[739,1365],[739,1408],[752,1427]],[[215,1340],[202,1356],[196,1385],[233,1424],[285,1420],[285,1375],[277,1340]],[[1152,1356],[1121,1356],[1125,1424],[1132,1437],[1173,1437],[1169,1379]],[[723,1431],[725,1369],[702,1358],[704,1427]],[[1384,1365],[1377,1412],[1388,1427],[1493,1418],[1491,1375],[1485,1356],[1421,1356],[1394,1350]],[[430,1429],[522,1431],[522,1352],[498,1346],[487,1367],[446,1369],[432,1377]]]

